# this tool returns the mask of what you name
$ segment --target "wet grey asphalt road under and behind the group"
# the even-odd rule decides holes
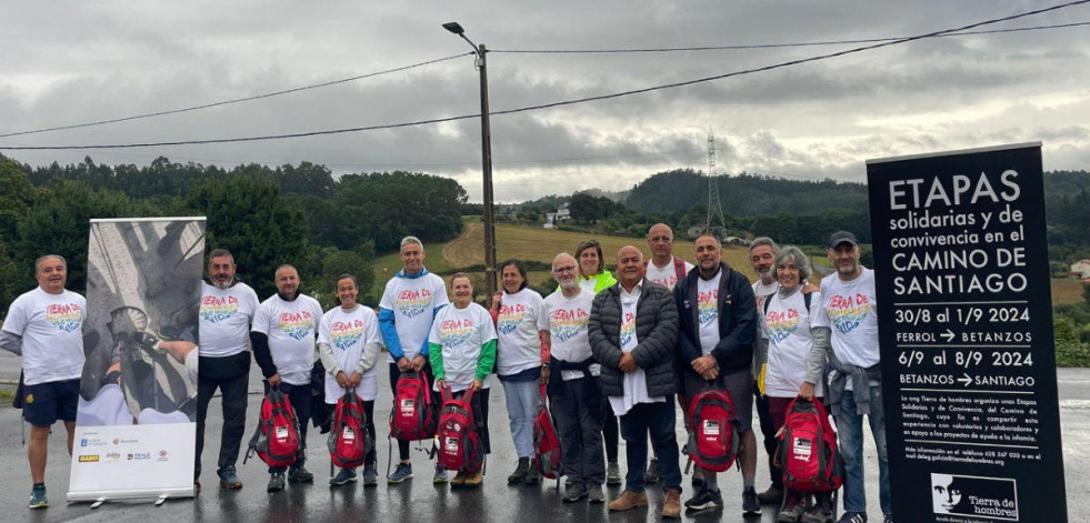
[[[18,379],[19,360],[0,355],[0,380],[9,379],[12,369]],[[384,365],[380,372],[386,372]],[[260,404],[261,382],[259,374],[251,373],[250,406],[247,411],[247,437],[254,426]],[[379,383],[388,383],[384,376]],[[1090,521],[1090,370],[1061,369],[1060,418],[1063,436],[1064,475],[1069,521]],[[588,504],[586,501],[566,504],[560,501],[563,487],[558,491],[557,482],[539,486],[508,486],[506,479],[513,469],[516,455],[507,425],[507,409],[503,402],[502,385],[497,384],[490,394],[490,429],[492,454],[489,456],[488,474],[483,487],[458,489],[449,485],[433,485],[432,462],[422,451],[412,451],[416,477],[401,485],[387,485],[380,481],[377,487],[363,487],[359,483],[331,489],[328,485],[329,455],[324,449],[324,435],[311,429],[311,447],[308,451],[308,467],[314,472],[312,485],[289,484],[278,494],[264,492],[268,473],[259,460],[247,465],[239,462],[239,475],[246,486],[239,491],[223,491],[219,487],[214,470],[219,449],[221,426],[219,399],[213,399],[209,411],[209,433],[203,456],[204,491],[192,500],[170,500],[162,506],[151,502],[113,502],[91,510],[87,503],[68,504],[64,501],[69,479],[69,456],[64,451],[63,429],[50,439],[49,464],[46,483],[51,506],[43,511],[29,511],[27,499],[30,491],[30,474],[20,432],[20,411],[10,406],[0,408],[0,464],[7,471],[0,474],[0,521],[109,521],[160,523],[173,521],[214,522],[292,522],[292,521],[382,521],[382,522],[511,522],[523,521],[613,521],[636,522],[658,520],[658,509],[662,493],[648,489],[651,506],[624,513],[610,514],[604,505]],[[376,419],[379,432],[379,473],[386,472],[388,444],[384,440],[386,420],[389,416],[391,394],[389,389],[380,388],[376,402]],[[754,424],[756,425],[756,424]],[[679,429],[679,441],[682,434]],[[864,447],[867,456],[868,485],[877,485],[878,466],[870,435]],[[624,449],[621,442],[621,473],[624,472]],[[244,441],[243,441],[244,445]],[[397,451],[394,450],[394,453]],[[768,485],[768,471],[758,464],[758,490]],[[683,466],[683,464],[682,464]],[[691,476],[686,475],[682,486],[682,501],[691,495],[688,489]],[[766,506],[760,519],[741,515],[741,475],[731,471],[720,475],[720,487],[724,493],[726,509],[721,513],[684,517],[682,521],[746,521],[774,522],[776,509]],[[621,487],[607,487],[607,497],[619,495]],[[878,489],[867,490],[869,519],[881,521],[878,509]],[[898,522],[911,522],[909,516],[900,516]]]

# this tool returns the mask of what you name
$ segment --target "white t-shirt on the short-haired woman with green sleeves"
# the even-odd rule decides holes
[[[452,304],[436,313],[428,343],[442,346],[443,379],[452,392],[464,391],[473,382],[481,348],[492,340],[496,340],[492,316],[477,303],[470,303],[466,309]],[[488,389],[488,376],[481,381]],[[439,384],[433,389],[438,391]]]

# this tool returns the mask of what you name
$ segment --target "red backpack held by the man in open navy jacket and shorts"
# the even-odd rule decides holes
[[[689,403],[689,459],[713,472],[730,469],[738,455],[736,418],[734,403],[727,391],[709,390],[694,395]]]

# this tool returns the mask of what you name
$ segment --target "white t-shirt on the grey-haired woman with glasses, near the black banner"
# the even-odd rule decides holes
[[[761,310],[761,326],[769,340],[768,371],[764,374],[764,391],[772,398],[794,398],[799,394],[807,372],[807,358],[813,348],[811,320],[817,313],[807,311],[802,292],[781,299],[779,293],[768,296],[768,313]],[[810,294],[810,306],[817,309],[821,293]],[[822,393],[822,383],[814,388],[817,395]]]

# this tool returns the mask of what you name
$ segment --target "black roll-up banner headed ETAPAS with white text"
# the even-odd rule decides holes
[[[1041,144],[867,181],[898,520],[1068,521]]]

